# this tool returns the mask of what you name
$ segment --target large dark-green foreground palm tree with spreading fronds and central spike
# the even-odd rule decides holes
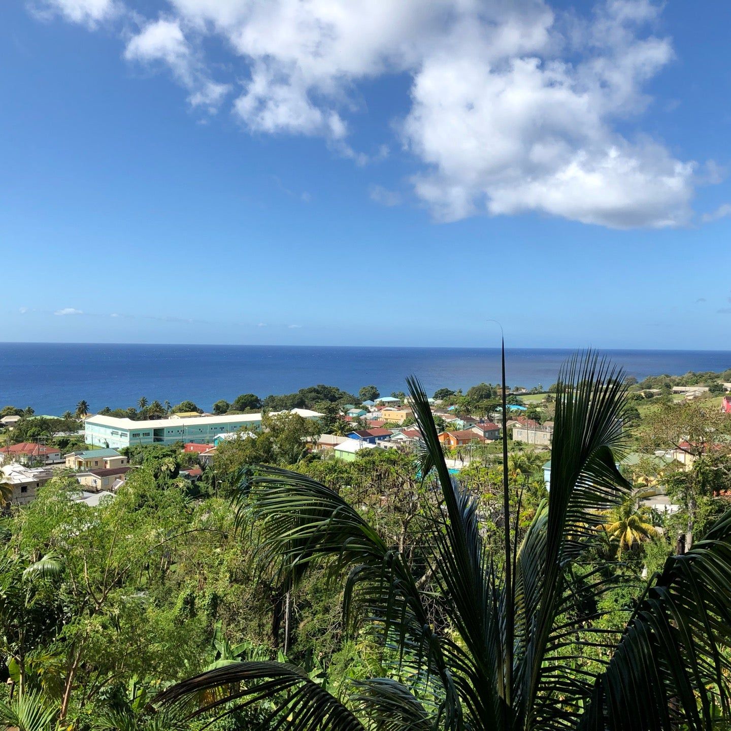
[[[436,474],[423,561],[409,564],[325,485],[273,467],[246,472],[235,505],[262,519],[265,558],[279,557],[287,588],[319,561],[346,570],[344,628],[382,643],[385,677],[355,682],[342,700],[291,664],[238,662],[178,683],[160,700],[234,688],[229,704],[266,701],[272,726],[295,731],[701,730],[717,708],[728,717],[731,512],[666,561],[623,632],[599,621],[599,598],[628,580],[586,566],[599,512],[632,491],[616,468],[623,376],[593,355],[562,370],[550,496],[518,540],[504,459],[496,551],[483,537],[477,499],[447,470],[415,379],[420,474]],[[218,705],[225,701],[214,705],[227,711]]]

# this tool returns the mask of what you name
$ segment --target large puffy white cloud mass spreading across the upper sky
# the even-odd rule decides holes
[[[691,219],[701,175],[639,127],[645,86],[673,59],[654,34],[661,8],[605,0],[575,16],[548,0],[170,0],[170,15],[143,24],[125,56],[167,64],[194,105],[216,107],[238,85],[233,110],[252,132],[319,136],[357,164],[372,159],[350,142],[368,111],[359,84],[406,75],[409,106],[395,127],[436,219],[533,212],[673,227]],[[212,38],[234,57],[228,86],[211,80],[200,52]]]

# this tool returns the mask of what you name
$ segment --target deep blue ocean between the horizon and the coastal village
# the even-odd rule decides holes
[[[602,351],[643,379],[656,374],[723,371],[731,351]],[[564,349],[507,350],[511,386],[556,381]],[[0,344],[0,407],[32,406],[37,414],[61,414],[85,399],[96,412],[148,401],[183,399],[202,409],[240,393],[292,393],[324,383],[357,393],[374,384],[381,393],[406,390],[418,376],[428,393],[500,382],[500,352],[491,348],[380,348],[255,345]]]

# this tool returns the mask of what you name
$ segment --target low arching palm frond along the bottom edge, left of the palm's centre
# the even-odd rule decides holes
[[[304,670],[280,662],[235,662],[177,683],[157,697],[163,707],[194,695],[228,689],[192,716],[224,716],[254,704],[266,704],[261,727],[290,731],[363,731],[352,711]]]

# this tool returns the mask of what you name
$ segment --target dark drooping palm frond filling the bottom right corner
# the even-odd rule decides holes
[[[668,558],[597,678],[581,728],[711,727],[730,707],[731,511]],[[633,725],[634,724],[634,725]]]

